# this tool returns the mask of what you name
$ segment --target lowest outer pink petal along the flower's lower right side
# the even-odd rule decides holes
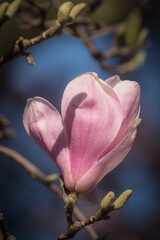
[[[107,155],[100,159],[77,183],[75,190],[78,193],[86,193],[90,189],[94,188],[100,180],[109,173],[113,168],[115,168],[130,151],[134,139],[136,137],[136,127],[135,123],[131,127],[125,138]]]

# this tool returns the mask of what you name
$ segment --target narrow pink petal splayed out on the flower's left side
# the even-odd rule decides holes
[[[62,171],[65,186],[73,190],[66,134],[56,108],[43,98],[30,98],[23,124],[29,136],[54,159]]]

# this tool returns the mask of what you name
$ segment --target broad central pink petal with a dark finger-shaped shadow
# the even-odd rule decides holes
[[[62,116],[76,184],[117,135],[122,109],[113,89],[95,73],[86,73],[66,87]]]

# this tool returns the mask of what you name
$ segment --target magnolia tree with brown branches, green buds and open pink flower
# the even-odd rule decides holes
[[[85,3],[74,5],[72,2],[60,4],[59,1],[24,2],[14,0],[1,3],[1,25],[16,16],[21,28],[41,26],[43,31],[33,38],[18,37],[12,48],[0,57],[0,65],[20,55],[26,56],[30,65],[35,65],[32,54],[26,49],[63,32],[80,37],[103,69],[130,72],[144,60],[142,48],[146,44],[147,29],[141,25],[141,14],[137,9],[130,12],[126,21],[106,25],[90,18],[103,1],[93,1],[88,6]],[[36,11],[36,18],[31,16],[31,12],[24,14],[25,4],[31,12]],[[56,19],[47,19],[46,13],[50,7],[56,9]],[[91,38],[102,33],[115,33],[115,46],[109,51],[100,52]],[[117,56],[128,58],[118,65],[104,63],[105,59]],[[101,200],[99,210],[90,218],[85,218],[76,202],[80,196],[92,202],[97,184],[125,158],[136,137],[141,121],[139,114],[139,84],[120,80],[118,75],[101,80],[96,73],[89,72],[70,81],[63,93],[61,114],[40,96],[27,100],[23,114],[26,132],[54,160],[61,174],[45,176],[29,160],[8,147],[1,145],[0,153],[13,159],[33,179],[45,184],[64,201],[68,228],[66,231],[62,229],[64,233],[57,239],[73,238],[84,227],[91,239],[106,239],[107,235],[98,236],[91,224],[108,220],[111,211],[124,206],[132,190],[126,190],[117,199],[114,192],[107,193]],[[3,137],[9,136],[6,126],[7,120],[1,117]],[[57,179],[60,188],[53,183]],[[73,221],[73,214],[76,221]],[[7,233],[2,214],[0,222],[2,235],[14,239]]]

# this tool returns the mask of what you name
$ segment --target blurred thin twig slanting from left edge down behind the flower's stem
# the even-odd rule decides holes
[[[45,174],[42,173],[28,159],[24,158],[16,151],[2,145],[0,145],[0,154],[4,154],[14,160],[19,166],[24,168],[34,180],[46,185],[52,192],[56,193],[56,195],[63,200],[62,191],[59,189],[59,187],[56,184],[47,181]],[[78,207],[74,207],[73,213],[75,217],[80,221],[83,221],[85,219],[84,214],[80,211]],[[92,226],[86,226],[86,230],[89,233],[91,239],[98,238],[98,235]]]

